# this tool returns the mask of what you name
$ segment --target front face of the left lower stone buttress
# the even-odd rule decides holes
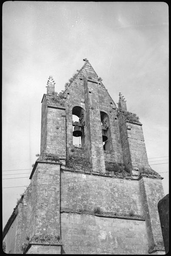
[[[60,165],[38,163],[32,185],[36,185],[36,205],[32,207],[35,228],[31,230],[36,235],[60,235]]]

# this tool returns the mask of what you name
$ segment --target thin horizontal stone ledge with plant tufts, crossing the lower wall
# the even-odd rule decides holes
[[[76,210],[73,209],[61,209],[60,211],[61,213],[76,213],[76,214],[83,214],[83,215],[95,215],[97,217],[104,217],[104,218],[120,218],[120,219],[128,219],[128,220],[137,220],[137,221],[145,221],[146,218],[144,218],[143,216],[125,216],[125,215],[115,215],[113,213],[111,214],[107,214],[107,213],[94,213],[94,212],[90,212],[90,211],[81,211],[78,212]]]

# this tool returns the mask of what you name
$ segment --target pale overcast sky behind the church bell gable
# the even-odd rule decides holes
[[[149,163],[164,177],[168,194],[168,5],[7,1],[2,71],[3,179],[8,179],[3,180],[3,225],[23,186],[30,183],[31,165],[40,153],[41,100],[48,77],[53,76],[57,92],[64,90],[83,58],[103,79],[115,103],[121,92],[128,111],[140,117]]]

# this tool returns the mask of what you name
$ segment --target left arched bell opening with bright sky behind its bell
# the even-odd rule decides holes
[[[84,109],[76,106],[73,108],[73,145],[84,148]]]

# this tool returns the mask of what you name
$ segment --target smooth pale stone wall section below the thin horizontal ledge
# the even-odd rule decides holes
[[[62,213],[63,253],[148,254],[145,221]]]

